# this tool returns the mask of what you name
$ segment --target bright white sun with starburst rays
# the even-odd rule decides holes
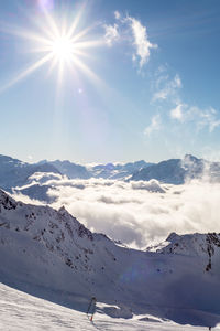
[[[38,54],[37,61],[23,70],[18,76],[13,77],[8,84],[0,88],[0,92],[11,87],[21,79],[25,78],[41,66],[48,63],[48,72],[57,71],[58,84],[62,84],[64,74],[72,70],[81,71],[92,81],[99,81],[97,75],[86,64],[89,57],[89,49],[103,44],[103,40],[89,36],[91,26],[79,30],[82,21],[84,7],[75,14],[73,20],[65,18],[55,19],[53,13],[44,9],[41,21],[34,21],[33,31],[14,26],[8,26],[7,33],[26,40],[26,50],[31,54]],[[80,24],[79,24],[80,23]]]

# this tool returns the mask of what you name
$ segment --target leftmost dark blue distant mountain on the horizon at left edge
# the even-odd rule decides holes
[[[22,186],[28,182],[28,178],[35,172],[59,171],[52,164],[29,164],[20,160],[0,156],[0,188],[11,191],[11,188]]]

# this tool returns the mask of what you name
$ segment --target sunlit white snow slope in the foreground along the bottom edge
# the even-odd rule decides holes
[[[91,323],[86,313],[32,297],[0,284],[0,330],[2,331],[208,330],[208,328],[179,325],[168,321],[139,321],[138,318],[124,320],[96,313]],[[220,330],[220,328],[212,330]]]

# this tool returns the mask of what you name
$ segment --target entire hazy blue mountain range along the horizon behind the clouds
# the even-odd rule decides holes
[[[44,200],[48,186],[33,182],[34,173],[48,177],[66,175],[68,179],[109,179],[125,181],[158,180],[163,183],[183,184],[191,179],[208,177],[211,181],[220,180],[220,162],[210,162],[186,154],[184,159],[169,159],[160,163],[143,160],[130,163],[108,163],[81,166],[65,161],[41,161],[30,164],[6,156],[0,156],[0,188],[9,192],[16,188],[30,197]],[[32,183],[32,186],[30,186]],[[28,185],[26,188],[22,188]],[[19,189],[20,188],[20,189]],[[22,189],[21,189],[22,188]],[[48,202],[48,201],[47,201]]]

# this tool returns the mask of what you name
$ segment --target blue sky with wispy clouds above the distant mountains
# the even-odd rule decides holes
[[[90,29],[78,38],[82,49],[73,45],[77,56],[53,45],[62,78],[53,56],[34,70],[51,54],[36,39],[50,39],[48,18],[61,31],[79,12],[73,38]],[[0,153],[219,160],[219,14],[218,0],[1,1]]]

